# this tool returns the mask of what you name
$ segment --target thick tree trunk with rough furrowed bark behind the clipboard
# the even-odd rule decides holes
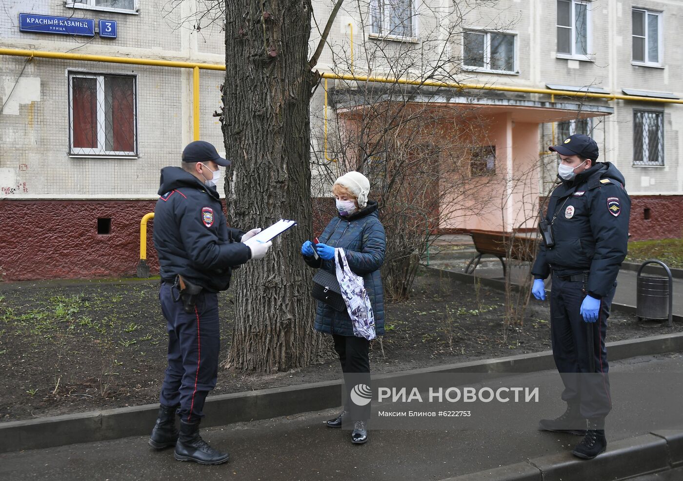
[[[308,64],[310,0],[225,2],[223,137],[229,223],[248,230],[278,219],[298,227],[268,256],[235,271],[235,329],[228,366],[277,372],[307,366],[324,351],[313,331]]]

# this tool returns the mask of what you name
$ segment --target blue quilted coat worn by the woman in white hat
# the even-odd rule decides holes
[[[335,217],[322,231],[318,240],[332,247],[342,247],[346,252],[351,271],[363,276],[365,290],[372,303],[375,331],[377,335],[383,335],[385,333],[384,288],[380,267],[385,258],[387,237],[377,215],[377,202],[371,200],[365,208],[354,215]],[[334,259],[315,260],[307,256],[303,258],[311,267],[335,273]],[[335,311],[320,301],[316,307],[314,327],[316,331],[328,334],[353,335],[353,325],[348,313]]]

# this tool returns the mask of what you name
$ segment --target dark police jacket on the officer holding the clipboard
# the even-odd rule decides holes
[[[210,292],[225,290],[232,267],[251,258],[240,243],[241,230],[227,227],[215,187],[208,187],[180,167],[161,169],[154,208],[154,248],[162,279],[180,274]]]

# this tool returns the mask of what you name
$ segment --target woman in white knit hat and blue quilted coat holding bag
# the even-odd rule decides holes
[[[378,217],[377,202],[367,199],[370,181],[363,174],[350,171],[335,181],[332,193],[337,201],[339,215],[322,232],[318,238],[320,242],[314,247],[307,240],[301,246],[301,253],[309,266],[335,273],[335,247],[344,249],[352,273],[363,277],[374,314],[375,333],[383,335],[384,290],[379,269],[385,259],[387,238]],[[314,248],[318,253],[317,259]],[[354,385],[370,385],[370,341],[354,336],[348,312],[334,310],[318,301],[315,329],[332,335],[335,351],[342,364],[347,394]],[[346,399],[344,411],[325,424],[331,428],[352,425],[352,443],[365,443],[370,404],[361,409],[350,401],[348,395]]]

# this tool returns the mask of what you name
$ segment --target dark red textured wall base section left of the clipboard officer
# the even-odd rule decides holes
[[[0,200],[0,275],[5,281],[135,275],[140,219],[156,200]],[[111,219],[98,234],[98,219]],[[104,222],[103,222],[104,223]],[[158,273],[152,226],[147,257]]]

